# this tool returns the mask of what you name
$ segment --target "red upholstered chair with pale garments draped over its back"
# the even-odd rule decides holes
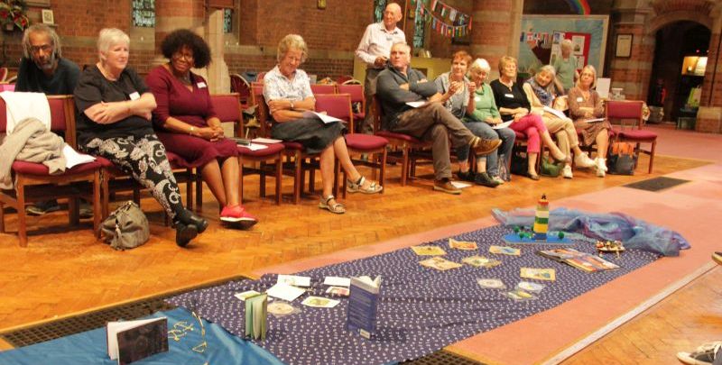
[[[75,104],[72,96],[48,96],[51,108],[51,130],[63,132],[65,141],[76,148]],[[0,98],[0,132],[5,133],[7,125],[5,100]],[[97,161],[84,163],[66,169],[59,175],[50,175],[48,167],[42,163],[14,161],[12,173],[15,189],[0,191],[0,232],[5,233],[4,205],[10,205],[17,211],[18,241],[27,246],[27,222],[25,204],[44,201],[51,198],[69,198],[69,223],[79,223],[77,199],[92,191],[93,232],[99,234],[100,224],[100,164]],[[88,188],[89,187],[89,188]]]

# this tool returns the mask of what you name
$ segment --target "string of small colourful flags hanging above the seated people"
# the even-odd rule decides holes
[[[446,37],[464,37],[471,32],[471,15],[460,12],[457,8],[441,0],[431,0],[430,6],[423,0],[412,0],[416,6],[416,15],[423,16],[430,23],[431,29]],[[447,23],[447,19],[450,23]]]

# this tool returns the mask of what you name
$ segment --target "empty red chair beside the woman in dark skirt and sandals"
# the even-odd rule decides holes
[[[354,160],[356,165],[366,165],[379,170],[379,185],[384,187],[384,176],[386,172],[386,145],[389,141],[384,137],[369,134],[354,133],[354,114],[351,110],[351,96],[348,94],[317,95],[316,111],[326,112],[347,122],[349,133],[346,135],[346,146],[348,153],[354,155],[366,154],[368,160]],[[346,171],[343,173],[343,196],[346,197]],[[382,193],[384,190],[381,191]]]

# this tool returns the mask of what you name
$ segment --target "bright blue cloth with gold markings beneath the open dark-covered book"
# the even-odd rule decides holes
[[[149,358],[135,361],[134,365],[282,365],[272,354],[254,343],[243,341],[227,333],[218,324],[204,321],[206,335],[202,337],[198,320],[185,309],[158,312],[150,317],[168,317],[168,329],[175,324],[185,322],[194,326],[193,331],[185,331],[179,341],[172,336],[168,339],[168,352],[157,353]],[[150,318],[149,317],[149,318]],[[180,328],[180,327],[179,327]],[[180,333],[179,333],[180,334]],[[204,340],[205,339],[205,340]],[[199,346],[202,342],[207,346]],[[3,365],[117,365],[107,355],[106,329],[72,334],[48,342],[36,343],[19,349],[0,352],[0,364]],[[196,348],[197,351],[193,351]],[[203,352],[199,352],[203,350]]]

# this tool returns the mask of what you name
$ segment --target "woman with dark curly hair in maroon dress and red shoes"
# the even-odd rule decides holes
[[[161,50],[169,61],[153,68],[145,79],[158,105],[153,111],[158,138],[166,150],[201,166],[203,180],[223,206],[221,222],[251,227],[258,221],[240,205],[238,147],[223,135],[206,80],[190,72],[208,66],[208,44],[196,33],[180,29],[165,37]]]

